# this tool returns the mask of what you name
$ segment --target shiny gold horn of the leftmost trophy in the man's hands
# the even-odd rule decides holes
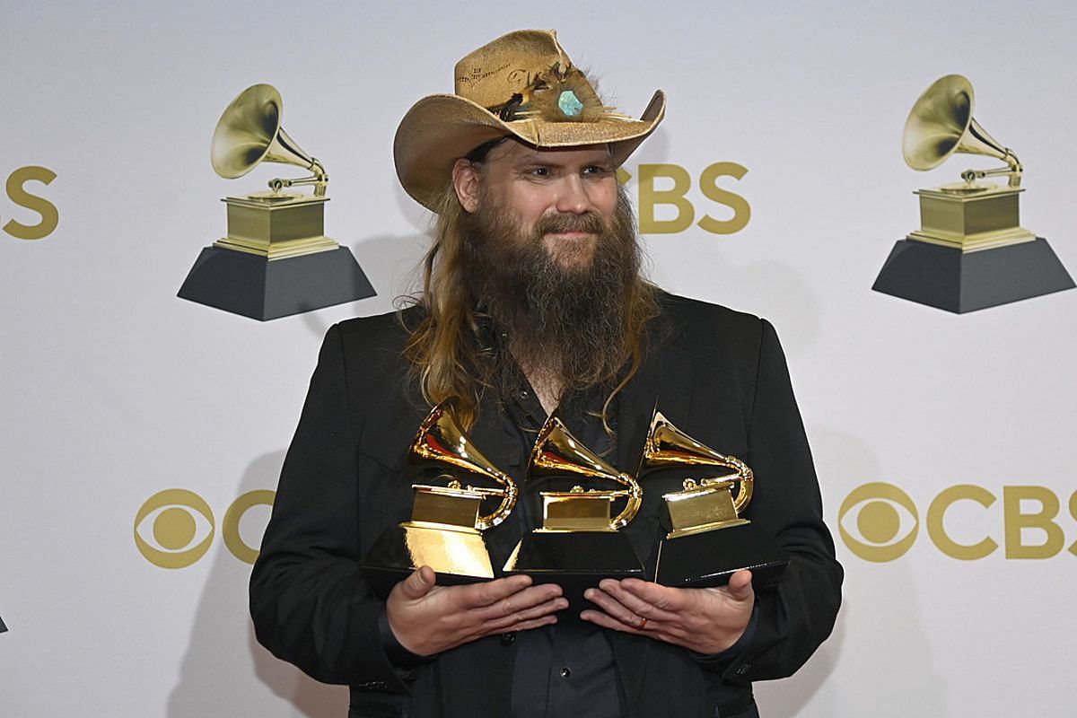
[[[408,461],[419,467],[452,467],[477,474],[500,483],[502,489],[468,487],[487,496],[501,496],[501,505],[492,513],[479,516],[475,527],[485,531],[505,520],[516,505],[518,490],[510,476],[501,471],[482,455],[464,431],[438,404],[419,427],[419,433],[408,451]]]

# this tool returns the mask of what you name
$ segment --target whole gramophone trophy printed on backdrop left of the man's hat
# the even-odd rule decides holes
[[[179,296],[261,321],[374,296],[351,251],[325,236],[322,164],[281,127],[280,93],[253,85],[225,109],[210,160],[240,178],[262,163],[297,165],[312,174],[269,182],[269,192],[225,197],[228,234],[202,250]],[[285,187],[312,185],[312,194]]]

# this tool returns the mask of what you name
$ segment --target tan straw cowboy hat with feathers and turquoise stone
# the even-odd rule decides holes
[[[401,184],[435,210],[453,163],[490,140],[513,136],[536,147],[606,143],[616,166],[666,114],[658,90],[639,119],[602,103],[554,30],[518,30],[457,62],[456,94],[424,97],[396,128]]]

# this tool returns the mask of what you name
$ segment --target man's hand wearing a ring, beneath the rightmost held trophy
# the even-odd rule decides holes
[[[639,578],[605,578],[584,597],[602,610],[585,610],[585,621],[614,631],[651,636],[697,653],[721,653],[737,643],[752,619],[752,572],[738,571],[729,585],[674,589]]]

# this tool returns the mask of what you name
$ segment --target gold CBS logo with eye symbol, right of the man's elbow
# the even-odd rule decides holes
[[[998,549],[995,538],[985,535],[969,540],[969,526],[948,524],[947,513],[962,502],[973,504],[962,505],[962,509],[982,510],[991,509],[997,501],[995,494],[970,483],[943,489],[927,506],[927,536],[937,549],[953,559],[975,561],[991,555]],[[1077,492],[1069,496],[1068,509],[1069,516],[1077,520]],[[1066,537],[1055,521],[1060,510],[1059,495],[1047,487],[1003,487],[1001,518],[1006,558],[1050,559],[1061,553],[1066,548]],[[841,503],[838,532],[849,550],[865,561],[893,561],[905,555],[915,543],[920,512],[909,494],[893,483],[865,483]],[[1067,550],[1077,554],[1077,541]]]

